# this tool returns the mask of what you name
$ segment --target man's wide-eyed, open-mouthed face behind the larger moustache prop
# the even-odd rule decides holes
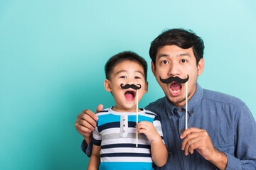
[[[183,49],[176,45],[166,45],[156,53],[156,64],[151,62],[151,69],[164,94],[175,106],[181,108],[186,103],[186,84],[172,82],[164,84],[161,79],[180,77],[188,79],[188,100],[196,92],[196,79],[203,73],[204,62],[201,59],[196,64],[193,49]],[[187,76],[188,75],[188,76]]]

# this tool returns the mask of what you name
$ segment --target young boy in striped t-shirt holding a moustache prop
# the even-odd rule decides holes
[[[139,109],[136,125],[135,89],[139,89],[140,101],[148,87],[146,69],[146,61],[129,51],[114,55],[105,65],[104,86],[112,93],[116,106],[97,113],[87,169],[153,169],[152,162],[157,166],[166,164],[168,152],[158,116]],[[144,134],[138,137],[138,147],[136,131]]]

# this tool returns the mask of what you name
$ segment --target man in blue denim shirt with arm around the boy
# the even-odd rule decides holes
[[[159,115],[169,152],[165,166],[155,169],[256,169],[256,123],[240,99],[202,89],[196,83],[203,73],[203,40],[183,29],[166,30],[149,50],[151,69],[164,98],[146,106]],[[169,77],[188,79],[188,128],[185,129],[186,84]],[[102,105],[97,111],[102,110]],[[85,110],[75,128],[90,144],[97,116]],[[87,148],[87,152],[90,147]],[[87,153],[90,154],[90,153]]]

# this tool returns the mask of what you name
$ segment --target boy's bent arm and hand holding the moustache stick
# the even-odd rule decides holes
[[[160,128],[161,124],[159,122]],[[151,122],[142,121],[136,126],[139,133],[144,133],[151,142],[151,157],[156,166],[164,166],[167,162],[168,152],[159,132],[156,131]]]

